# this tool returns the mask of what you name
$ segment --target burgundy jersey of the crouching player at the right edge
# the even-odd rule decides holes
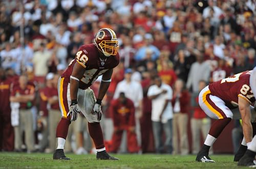
[[[249,103],[255,101],[250,88],[249,78],[251,71],[245,71],[209,85],[211,95],[217,96],[225,101],[226,106],[234,108],[238,106],[238,97],[242,97]]]

